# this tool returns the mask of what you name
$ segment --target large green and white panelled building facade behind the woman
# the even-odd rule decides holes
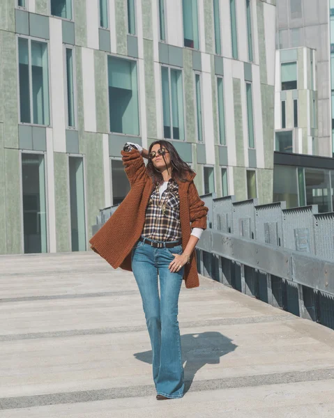
[[[275,0],[2,0],[0,54],[0,254],[87,249],[129,140],[272,201]]]

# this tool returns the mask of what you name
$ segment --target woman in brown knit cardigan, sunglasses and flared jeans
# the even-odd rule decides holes
[[[194,249],[206,229],[208,208],[199,199],[195,172],[170,142],[155,141],[149,150],[127,143],[124,149],[130,192],[91,238],[91,247],[114,268],[134,273],[151,339],[157,399],[181,398],[179,293],[183,279],[186,288],[199,286]],[[143,157],[149,159],[146,167]]]

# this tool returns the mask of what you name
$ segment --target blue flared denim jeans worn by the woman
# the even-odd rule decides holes
[[[181,245],[155,248],[138,241],[131,258],[151,340],[155,389],[157,394],[168,398],[182,398],[184,372],[177,316],[184,267],[179,272],[170,272],[172,254],[182,254]]]

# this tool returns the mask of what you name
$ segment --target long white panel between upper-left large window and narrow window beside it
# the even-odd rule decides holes
[[[62,22],[54,17],[50,17],[50,84],[54,150],[66,153]]]

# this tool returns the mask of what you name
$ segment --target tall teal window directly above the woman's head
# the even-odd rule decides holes
[[[164,137],[184,139],[182,72],[161,67],[161,81]]]

